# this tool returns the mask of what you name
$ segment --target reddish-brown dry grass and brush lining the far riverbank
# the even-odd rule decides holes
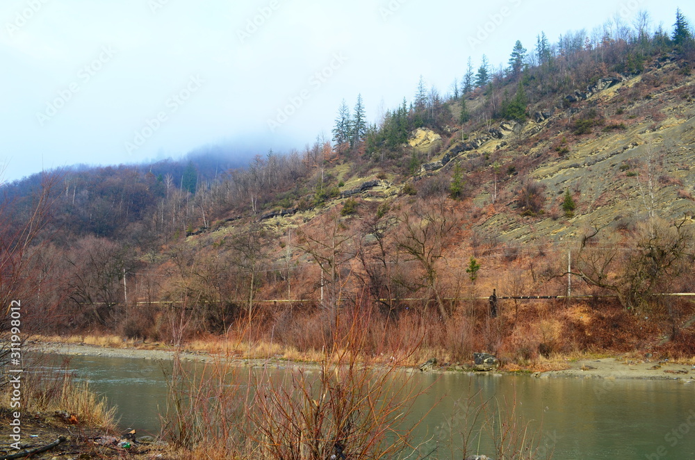
[[[693,327],[682,327],[676,340],[660,345],[659,337],[670,332],[665,320],[655,318],[657,315],[646,320],[616,302],[578,301],[568,306],[565,302],[505,301],[500,303],[500,317],[494,319],[489,318],[484,301],[459,302],[446,320],[439,318],[433,308],[410,307],[399,313],[398,320],[386,320],[376,309],[371,311],[370,322],[364,327],[360,361],[398,361],[411,367],[436,358],[440,365],[458,365],[471,363],[473,352],[489,352],[498,356],[506,370],[557,370],[587,354],[642,356],[651,352],[678,362],[695,360]],[[690,318],[695,312],[691,304],[679,308],[682,318]],[[289,323],[281,320],[282,315],[282,311],[265,315],[254,324],[251,340],[248,328],[241,326],[223,336],[198,335],[184,343],[183,350],[236,360],[320,363],[324,357],[323,335],[306,331],[325,330],[321,311],[310,309]],[[47,336],[40,340],[118,348],[166,347],[111,335]]]

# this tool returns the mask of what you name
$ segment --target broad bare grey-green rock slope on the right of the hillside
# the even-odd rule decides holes
[[[507,241],[578,238],[589,227],[651,215],[692,220],[695,78],[678,72],[671,63],[630,78],[606,77],[523,124],[502,122],[465,140],[454,133],[420,175],[441,174],[457,162],[468,172],[487,169],[472,202],[493,212],[474,227]],[[514,171],[519,165],[523,174]],[[541,184],[546,204],[541,214],[521,217],[515,190],[528,180]],[[566,190],[578,205],[571,218],[559,208]]]

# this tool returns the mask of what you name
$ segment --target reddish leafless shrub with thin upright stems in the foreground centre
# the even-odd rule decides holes
[[[400,420],[423,391],[396,374],[400,363],[379,365],[363,352],[368,320],[347,322],[322,354],[309,355],[320,357],[318,370],[272,375],[220,358],[189,371],[176,354],[164,425],[181,447],[181,458],[197,458],[203,449],[213,459],[307,460],[343,457],[343,452],[354,459],[390,458],[410,450],[418,423],[405,426]],[[267,342],[236,343],[224,351],[234,356],[288,352]]]

